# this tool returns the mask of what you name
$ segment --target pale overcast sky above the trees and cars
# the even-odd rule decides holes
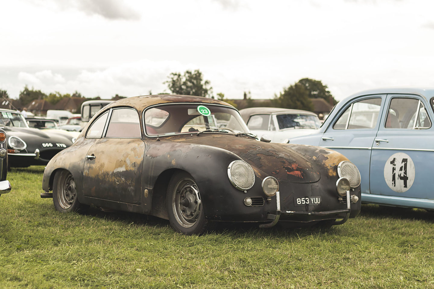
[[[0,89],[111,98],[200,69],[214,95],[272,98],[301,78],[337,100],[434,86],[430,0],[1,1]]]

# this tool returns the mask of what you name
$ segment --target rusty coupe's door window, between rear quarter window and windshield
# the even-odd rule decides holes
[[[105,137],[140,138],[140,120],[137,111],[131,108],[113,109]]]

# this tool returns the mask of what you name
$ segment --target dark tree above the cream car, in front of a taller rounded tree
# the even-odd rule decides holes
[[[295,83],[283,89],[279,96],[275,95],[273,104],[276,107],[313,110],[312,101],[309,98],[309,91],[300,83]]]

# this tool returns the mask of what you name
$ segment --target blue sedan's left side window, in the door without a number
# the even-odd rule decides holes
[[[374,128],[381,109],[381,97],[353,103],[333,125],[335,130]]]

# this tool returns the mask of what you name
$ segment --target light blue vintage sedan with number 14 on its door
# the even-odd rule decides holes
[[[382,88],[340,101],[318,133],[289,143],[324,146],[362,176],[362,202],[434,209],[434,88]]]

